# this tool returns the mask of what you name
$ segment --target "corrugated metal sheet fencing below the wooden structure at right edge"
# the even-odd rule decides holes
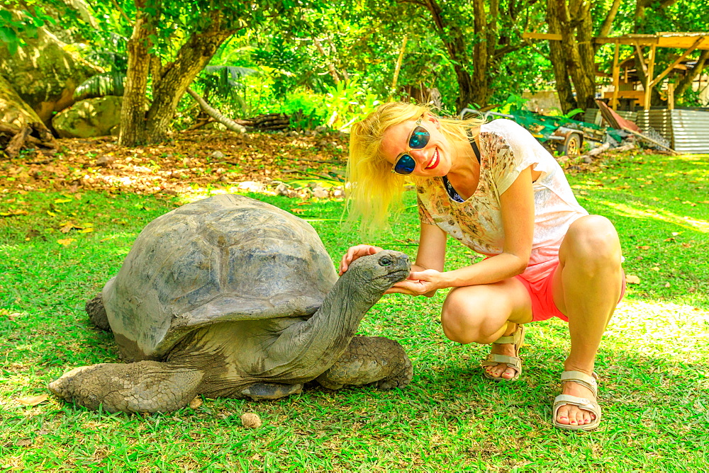
[[[641,110],[636,123],[653,127],[678,153],[709,153],[709,111]]]

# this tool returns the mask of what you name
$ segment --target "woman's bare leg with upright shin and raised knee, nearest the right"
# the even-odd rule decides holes
[[[571,351],[564,370],[593,373],[598,346],[620,298],[623,270],[620,241],[605,217],[588,215],[569,227],[559,249],[559,267],[552,281],[554,303],[569,317]],[[564,382],[563,394],[594,399],[576,382]],[[593,414],[576,406],[562,406],[559,423],[585,425]]]

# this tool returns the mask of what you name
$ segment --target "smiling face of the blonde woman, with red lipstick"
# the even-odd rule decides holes
[[[380,151],[389,164],[393,164],[406,153],[415,163],[414,176],[445,176],[452,166],[452,147],[448,139],[440,132],[440,122],[425,115],[420,123],[430,135],[428,144],[420,149],[411,149],[409,142],[416,127],[416,120],[408,120],[389,127],[381,139]]]

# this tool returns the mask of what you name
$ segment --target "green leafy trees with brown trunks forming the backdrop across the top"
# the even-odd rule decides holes
[[[700,0],[9,0],[0,10],[8,55],[48,28],[105,71],[123,95],[121,143],[162,142],[194,119],[188,87],[233,118],[298,113],[345,127],[389,98],[447,113],[556,89],[561,113],[593,103],[613,48],[595,36],[706,29]],[[557,33],[537,41],[523,33]],[[628,50],[624,54],[639,54]],[[663,67],[681,51],[658,52]],[[692,74],[676,81],[696,104]],[[640,68],[638,68],[640,69]],[[642,76],[642,70],[638,71]],[[94,79],[96,84],[99,79]],[[113,84],[113,85],[111,85]],[[654,103],[663,100],[659,86]]]

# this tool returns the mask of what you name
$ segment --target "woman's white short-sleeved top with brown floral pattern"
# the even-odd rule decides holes
[[[442,178],[414,177],[420,221],[437,225],[477,253],[502,253],[500,195],[524,169],[534,165],[541,175],[533,185],[535,228],[532,253],[523,277],[537,280],[552,267],[569,225],[588,215],[574,197],[561,166],[537,140],[512,120],[481,125],[480,179],[475,193],[459,203],[452,200]],[[474,158],[473,158],[474,159]],[[542,266],[539,266],[542,265]]]

